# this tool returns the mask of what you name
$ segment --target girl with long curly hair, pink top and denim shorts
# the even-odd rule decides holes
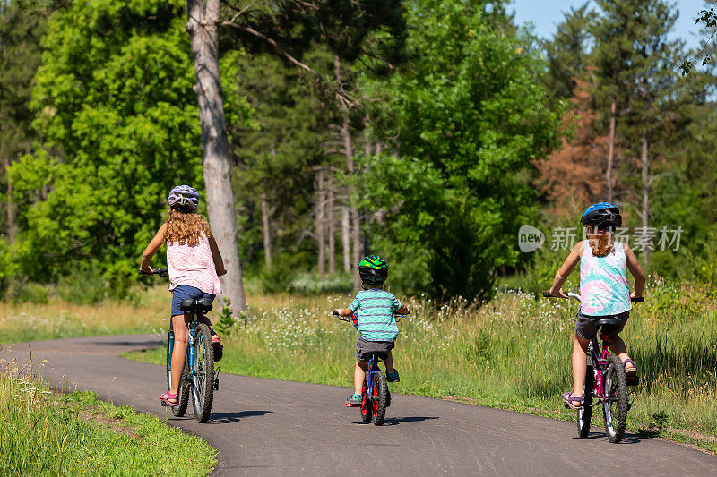
[[[167,243],[167,266],[169,270],[169,291],[172,292],[170,316],[174,330],[172,351],[172,388],[160,399],[169,406],[177,405],[178,383],[186,359],[191,317],[181,311],[179,305],[186,298],[211,298],[221,293],[219,276],[224,275],[224,262],[217,243],[214,241],[209,224],[196,213],[199,194],[188,185],[179,185],[169,192],[169,218],[151,239],[142,255],[140,270],[151,275],[150,260]],[[214,333],[212,322],[201,319],[212,330],[214,361],[221,358],[220,337]],[[177,383],[177,384],[175,384]]]

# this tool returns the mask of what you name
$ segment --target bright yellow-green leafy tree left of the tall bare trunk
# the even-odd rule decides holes
[[[181,2],[81,2],[43,38],[32,93],[42,147],[13,165],[23,277],[96,266],[124,287],[175,183],[201,189]]]

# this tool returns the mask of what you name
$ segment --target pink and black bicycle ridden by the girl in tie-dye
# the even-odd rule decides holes
[[[579,294],[568,293],[567,295],[580,302]],[[543,292],[543,296],[546,298],[560,298],[548,292]],[[642,297],[632,298],[631,301],[644,302],[644,299]],[[577,412],[577,434],[581,438],[588,437],[592,408],[595,407],[593,401],[597,401],[597,405],[602,406],[608,440],[610,442],[619,442],[625,436],[627,412],[630,410],[632,403],[627,392],[627,379],[622,362],[620,362],[618,356],[610,354],[608,349],[610,343],[608,341],[603,340],[600,345],[598,336],[600,336],[600,328],[619,326],[620,321],[617,318],[605,317],[598,319],[596,325],[598,335],[592,338],[588,347],[588,367],[587,371],[585,371],[583,406]]]

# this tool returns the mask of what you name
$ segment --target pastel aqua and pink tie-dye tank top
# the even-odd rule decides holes
[[[580,258],[580,300],[585,315],[617,315],[632,308],[627,285],[625,245],[615,243],[613,251],[595,257],[585,241]]]

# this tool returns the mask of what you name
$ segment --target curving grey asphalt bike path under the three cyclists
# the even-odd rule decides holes
[[[31,348],[53,387],[95,391],[201,436],[219,451],[216,475],[717,475],[717,457],[660,439],[610,444],[598,427],[577,439],[574,422],[393,393],[377,427],[344,406],[348,387],[229,374],[199,424],[191,403],[183,418],[160,406],[164,366],[120,356],[164,345],[156,335],[68,338],[3,345],[0,360],[27,363]]]

